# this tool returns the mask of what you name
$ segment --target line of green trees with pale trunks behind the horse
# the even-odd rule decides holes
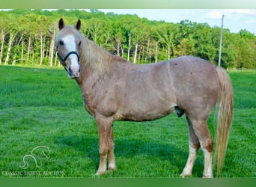
[[[0,64],[60,66],[55,36],[58,20],[68,25],[81,19],[81,32],[114,55],[136,64],[147,64],[194,55],[217,64],[219,27],[182,20],[150,21],[137,15],[85,10],[0,11]],[[240,30],[223,30],[222,67],[256,69],[256,36]]]

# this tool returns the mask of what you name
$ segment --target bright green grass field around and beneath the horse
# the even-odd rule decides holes
[[[234,123],[221,177],[256,177],[256,71],[229,74]],[[189,153],[184,116],[114,126],[118,168],[103,177],[179,177]],[[98,164],[97,126],[75,81],[62,69],[0,66],[0,177],[95,177]],[[192,177],[203,168],[200,151]]]

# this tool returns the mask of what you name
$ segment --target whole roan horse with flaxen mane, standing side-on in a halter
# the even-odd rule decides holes
[[[180,177],[192,175],[201,147],[203,177],[221,171],[233,117],[231,79],[221,67],[201,58],[181,56],[155,64],[133,64],[106,52],[61,18],[56,36],[57,55],[82,91],[86,111],[99,133],[100,165],[97,175],[115,171],[113,122],[156,120],[171,113],[186,115],[189,156]],[[213,156],[213,139],[207,119],[216,107],[218,127]],[[214,157],[214,158],[213,158]],[[216,166],[217,165],[217,166]]]

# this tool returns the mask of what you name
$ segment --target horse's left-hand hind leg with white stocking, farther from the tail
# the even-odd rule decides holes
[[[194,129],[192,128],[192,123],[187,117],[186,120],[189,127],[189,157],[186,161],[185,168],[180,174],[180,177],[187,177],[192,174],[192,168],[195,163],[196,156],[198,155],[198,150],[200,148],[198,137],[195,135]]]

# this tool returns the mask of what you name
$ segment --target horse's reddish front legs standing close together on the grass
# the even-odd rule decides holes
[[[100,165],[97,175],[106,174],[107,158],[109,154],[109,169],[115,170],[115,156],[114,156],[114,138],[111,118],[97,116],[96,117],[98,132],[99,132],[99,152]]]

